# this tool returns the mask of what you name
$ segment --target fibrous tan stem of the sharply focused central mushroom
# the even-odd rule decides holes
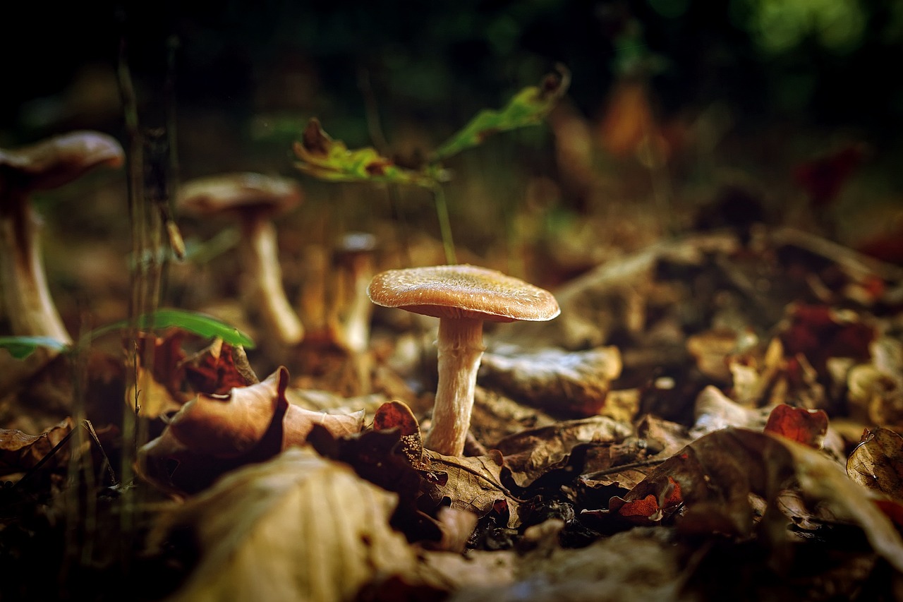
[[[483,321],[440,318],[439,382],[433,404],[433,428],[424,447],[444,456],[461,456],[470,428],[470,410],[483,357]]]

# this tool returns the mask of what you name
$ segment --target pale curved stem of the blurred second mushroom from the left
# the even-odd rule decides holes
[[[244,234],[245,268],[252,283],[248,291],[250,300],[260,304],[258,308],[267,331],[280,343],[299,343],[304,329],[285,297],[275,226],[269,220],[257,218],[248,221]]]

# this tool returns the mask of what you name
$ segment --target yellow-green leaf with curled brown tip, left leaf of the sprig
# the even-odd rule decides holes
[[[303,140],[293,145],[301,159],[295,166],[304,174],[330,182],[407,183],[433,188],[433,174],[399,167],[372,147],[349,150],[341,140],[333,140],[317,118],[304,129]]]

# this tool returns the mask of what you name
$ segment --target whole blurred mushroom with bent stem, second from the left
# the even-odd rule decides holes
[[[286,345],[299,343],[304,328],[285,296],[272,218],[301,199],[301,188],[293,180],[249,172],[190,180],[179,193],[179,208],[186,213],[224,214],[240,221],[246,304],[259,309],[267,332]]]

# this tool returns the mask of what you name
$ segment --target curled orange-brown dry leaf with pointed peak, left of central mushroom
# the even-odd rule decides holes
[[[280,367],[228,395],[199,394],[138,451],[138,474],[171,493],[197,492],[237,466],[304,445],[314,425],[337,437],[363,428],[363,412],[324,414],[290,404],[288,380]]]

